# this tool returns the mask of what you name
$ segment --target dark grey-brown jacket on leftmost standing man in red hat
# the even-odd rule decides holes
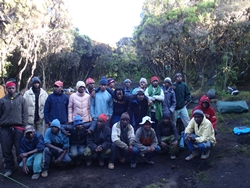
[[[6,94],[0,99],[0,126],[26,126],[28,124],[28,108],[25,98],[15,93],[13,99]]]

